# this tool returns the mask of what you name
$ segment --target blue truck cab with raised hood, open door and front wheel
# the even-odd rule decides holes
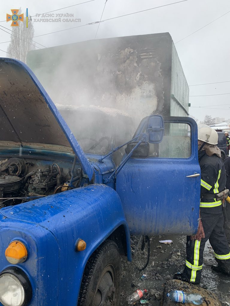
[[[118,306],[130,235],[197,230],[195,121],[148,114],[127,139],[123,110],[56,107],[18,60],[0,58],[0,79],[0,304]],[[180,104],[173,86],[168,110]]]

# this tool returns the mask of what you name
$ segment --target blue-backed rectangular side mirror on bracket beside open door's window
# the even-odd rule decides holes
[[[164,135],[163,117],[160,115],[149,116],[146,133],[148,133],[148,141],[151,144],[159,144]]]

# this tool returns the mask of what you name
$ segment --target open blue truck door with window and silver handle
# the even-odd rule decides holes
[[[197,230],[201,180],[197,124],[188,117],[163,119],[163,140],[149,143],[147,158],[133,154],[117,175],[116,190],[133,235],[191,235]],[[146,120],[134,137],[147,132]]]

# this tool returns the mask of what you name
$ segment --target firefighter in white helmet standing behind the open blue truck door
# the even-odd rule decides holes
[[[214,129],[208,125],[198,127],[201,167],[199,226],[196,235],[187,236],[184,271],[174,275],[174,279],[192,284],[201,281],[203,252],[208,239],[217,261],[217,266],[212,266],[212,269],[230,276],[230,250],[223,229],[222,200],[216,200],[216,194],[224,190],[226,184],[226,172],[217,142],[218,134]]]

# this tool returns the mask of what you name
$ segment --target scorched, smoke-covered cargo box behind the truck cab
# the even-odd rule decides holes
[[[55,103],[113,107],[137,123],[151,113],[188,114],[189,88],[169,33],[35,50],[27,63]]]

